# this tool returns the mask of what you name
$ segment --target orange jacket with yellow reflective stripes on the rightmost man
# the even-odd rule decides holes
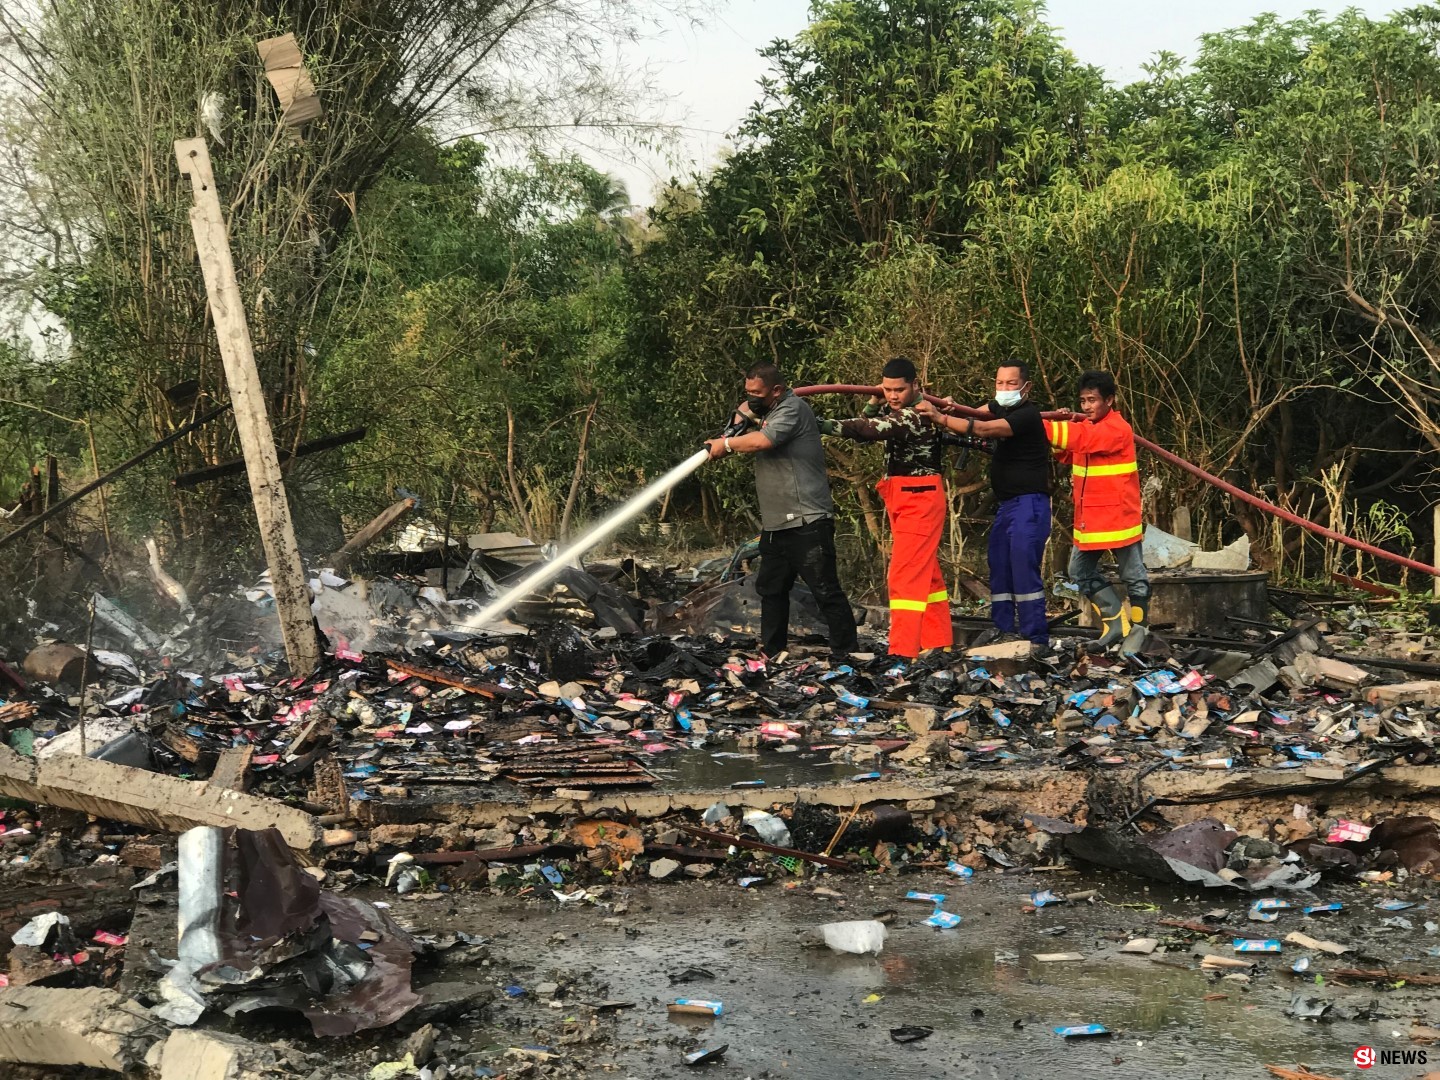
[[[1140,539],[1140,472],[1135,432],[1115,409],[1099,423],[1045,420],[1056,456],[1070,465],[1074,541],[1081,550],[1126,547]]]

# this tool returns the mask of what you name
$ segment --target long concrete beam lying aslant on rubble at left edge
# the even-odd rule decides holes
[[[274,827],[300,852],[312,851],[321,838],[314,816],[275,799],[75,755],[32,760],[0,746],[0,795],[164,832]]]

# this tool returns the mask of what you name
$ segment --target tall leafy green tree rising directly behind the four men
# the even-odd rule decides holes
[[[816,3],[806,30],[763,55],[772,75],[736,153],[694,202],[655,207],[638,261],[636,353],[678,373],[672,412],[721,416],[762,359],[796,383],[873,379],[887,350],[935,360],[935,380],[973,374],[942,264],[992,193],[1034,190],[1084,157],[1099,73],[1011,0]],[[901,288],[909,271],[891,259],[919,279]],[[871,323],[897,291],[913,318]],[[919,311],[932,300],[940,333]],[[845,468],[861,505],[867,459]],[[714,494],[740,504],[737,471],[724,482]]]

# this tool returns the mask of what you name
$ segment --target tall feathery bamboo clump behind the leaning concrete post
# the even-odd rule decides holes
[[[344,240],[364,230],[357,206],[389,160],[431,121],[497,138],[624,124],[624,88],[596,58],[644,17],[631,0],[4,7],[6,112],[24,163],[7,202],[26,209],[13,230],[43,238],[48,252],[16,276],[65,324],[66,363],[107,374],[109,400],[95,416],[104,456],[226,397],[176,138],[210,141],[275,435],[294,445],[315,413],[315,338],[347,318],[325,307],[350,295],[334,279],[363,272],[346,262]],[[281,122],[256,53],[259,39],[285,32],[324,107],[300,134]],[[186,380],[196,393],[166,393]],[[128,501],[180,533],[226,524],[243,504],[213,487],[171,498],[163,472],[236,454],[232,423],[212,423],[128,478]]]

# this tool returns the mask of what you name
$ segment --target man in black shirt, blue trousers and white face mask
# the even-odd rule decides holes
[[[991,526],[991,621],[996,634],[1050,645],[1041,563],[1050,539],[1050,442],[1040,409],[1030,400],[1030,370],[1020,360],[995,372],[991,420],[946,416],[929,402],[916,412],[963,435],[995,439],[991,487],[999,508]]]

